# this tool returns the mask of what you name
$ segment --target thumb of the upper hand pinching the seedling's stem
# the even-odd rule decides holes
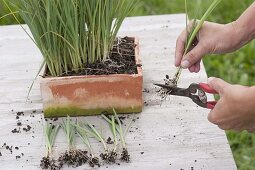
[[[184,69],[191,67],[197,63],[206,53],[206,48],[198,43],[190,52],[184,56],[181,62],[181,67]]]

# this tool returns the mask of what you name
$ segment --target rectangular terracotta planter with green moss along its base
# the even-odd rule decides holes
[[[141,64],[138,40],[135,48],[136,62]],[[42,78],[40,87],[44,116],[87,116],[103,111],[137,113],[143,108],[142,68],[138,74],[100,76],[70,76]]]

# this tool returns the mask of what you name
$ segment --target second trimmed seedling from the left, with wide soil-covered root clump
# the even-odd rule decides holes
[[[59,157],[60,166],[62,167],[64,164],[67,164],[68,166],[78,167],[85,164],[89,160],[89,156],[87,151],[75,149],[75,127],[72,125],[69,116],[63,120],[61,127],[64,130],[69,150]]]

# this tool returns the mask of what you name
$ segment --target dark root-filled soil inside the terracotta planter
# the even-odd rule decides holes
[[[70,71],[61,75],[64,76],[81,76],[81,75],[109,75],[109,74],[137,74],[135,60],[134,38],[124,37],[115,41],[109,58],[103,62],[95,62],[93,64],[84,65],[84,68],[78,72]],[[46,71],[45,77],[48,77],[49,71]]]

